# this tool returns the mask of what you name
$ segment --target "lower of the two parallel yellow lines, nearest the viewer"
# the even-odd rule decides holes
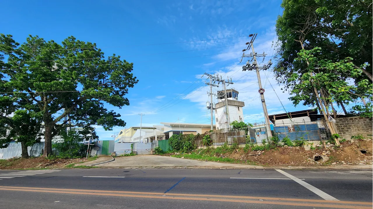
[[[143,195],[133,195],[133,194],[86,193],[86,192],[69,192],[69,191],[56,191],[56,190],[33,190],[33,189],[12,189],[12,188],[0,188],[0,190],[22,191],[22,192],[84,194],[84,195],[96,195],[96,196],[140,197],[140,198],[174,199],[174,200],[203,200],[203,201],[219,201],[219,202],[240,202],[240,203],[291,205],[291,206],[307,206],[307,207],[323,207],[323,208],[373,209],[373,207],[352,206],[352,205],[327,205],[327,204],[316,204],[316,203],[292,203],[292,202],[264,202],[264,201],[257,201],[257,200],[216,199],[216,198],[203,198],[203,197],[197,198],[197,197],[143,196]],[[161,193],[161,194],[163,194],[163,193]],[[335,202],[335,203],[340,203],[340,202],[338,201],[338,202]]]

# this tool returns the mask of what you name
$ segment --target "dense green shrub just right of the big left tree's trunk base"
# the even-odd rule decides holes
[[[54,143],[53,148],[56,149],[58,158],[80,158],[87,154],[87,145],[82,144],[83,139],[75,131],[61,132],[61,142]],[[48,155],[48,158],[53,155]]]

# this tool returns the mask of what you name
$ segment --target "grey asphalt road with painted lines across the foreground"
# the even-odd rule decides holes
[[[372,170],[0,170],[0,179],[0,208],[373,209]]]

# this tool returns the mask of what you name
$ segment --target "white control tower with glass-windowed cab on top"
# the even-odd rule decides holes
[[[237,120],[238,122],[244,122],[244,112],[242,110],[242,107],[245,106],[245,103],[238,101],[238,91],[234,89],[227,89],[226,92],[230,122],[232,123],[235,120]],[[224,91],[218,91],[217,95],[221,96],[218,99],[218,103],[215,104],[216,129],[227,129],[228,120],[224,99]]]

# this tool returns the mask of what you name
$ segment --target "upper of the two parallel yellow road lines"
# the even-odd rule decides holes
[[[319,202],[319,203],[343,203],[355,205],[372,205],[373,202],[351,202],[351,201],[334,201],[334,200],[315,200],[315,199],[295,199],[281,197],[252,197],[252,196],[232,196],[218,194],[182,194],[182,193],[159,193],[159,192],[129,192],[129,191],[113,191],[113,190],[88,190],[88,189],[58,189],[58,188],[43,188],[43,187],[12,187],[0,186],[0,188],[10,189],[33,189],[33,190],[59,190],[59,191],[74,191],[74,192],[104,192],[104,193],[124,193],[124,194],[150,194],[150,195],[167,195],[167,196],[192,196],[192,197],[222,197],[222,198],[240,198],[240,199],[263,199],[263,200],[285,200],[296,202]]]

